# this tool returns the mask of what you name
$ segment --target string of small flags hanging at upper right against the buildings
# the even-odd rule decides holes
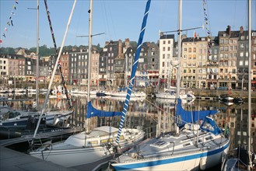
[[[204,17],[205,17],[205,30],[207,33],[207,51],[208,51],[208,58],[212,55],[211,51],[209,50],[209,48],[212,47],[212,41],[211,41],[211,32],[209,30],[209,19],[208,19],[208,15],[206,13],[206,2],[205,0],[202,1],[203,2],[203,8],[204,8]],[[212,65],[212,61],[209,61],[209,65]],[[210,68],[210,75],[212,75],[212,69]]]

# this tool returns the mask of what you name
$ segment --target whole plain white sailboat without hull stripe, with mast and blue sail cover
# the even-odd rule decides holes
[[[71,167],[86,165],[92,162],[101,161],[132,148],[144,138],[144,131],[141,129],[124,128],[121,132],[116,127],[96,127],[90,129],[91,117],[114,117],[121,116],[122,112],[108,112],[96,110],[90,101],[90,59],[92,46],[92,15],[93,0],[90,0],[89,9],[89,68],[88,68],[88,103],[86,114],[86,131],[74,134],[67,140],[58,142],[49,147],[41,147],[30,152],[30,155],[57,163],[58,165]],[[114,141],[117,136],[120,141]]]

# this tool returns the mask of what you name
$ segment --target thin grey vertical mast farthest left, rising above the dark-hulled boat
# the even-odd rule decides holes
[[[37,79],[36,79],[36,110],[39,110],[39,0],[37,0]]]

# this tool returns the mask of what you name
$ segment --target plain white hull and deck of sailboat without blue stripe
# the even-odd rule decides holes
[[[113,134],[117,134],[117,128],[112,127],[110,129],[116,130]],[[62,143],[51,145],[48,148],[40,148],[37,151],[30,152],[30,155],[65,167],[88,164],[114,155],[113,148],[107,148],[107,141],[100,145],[88,145],[89,142],[95,143],[96,141],[105,141],[109,138],[114,140],[114,138],[111,138],[111,134],[99,135],[101,133],[98,131],[99,130],[96,131],[94,136],[86,135],[85,132],[72,135]],[[124,136],[124,139],[119,142],[118,147],[120,148],[117,148],[119,152],[126,151],[128,148],[131,148],[132,145],[135,145],[135,143],[142,141],[142,138],[144,138],[144,131],[124,129],[124,134],[122,135]],[[87,143],[86,147],[85,141]],[[114,142],[111,143],[115,144]]]

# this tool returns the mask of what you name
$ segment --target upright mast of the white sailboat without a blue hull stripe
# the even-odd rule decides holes
[[[88,85],[87,85],[87,103],[89,103],[90,80],[91,80],[91,56],[92,56],[92,23],[93,23],[93,0],[89,1],[89,45],[88,45]],[[86,133],[89,133],[89,118],[86,120]]]

